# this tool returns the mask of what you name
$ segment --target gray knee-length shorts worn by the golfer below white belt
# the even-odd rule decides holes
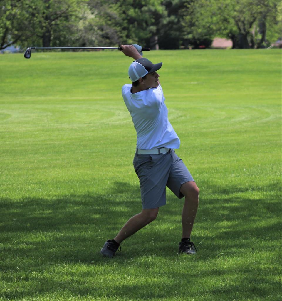
[[[159,155],[135,154],[133,167],[140,181],[143,209],[164,206],[166,186],[181,199],[183,197],[180,192],[181,185],[194,181],[189,170],[173,149],[166,154]]]

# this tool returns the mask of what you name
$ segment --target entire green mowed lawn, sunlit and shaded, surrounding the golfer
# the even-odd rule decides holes
[[[281,300],[281,50],[144,53],[159,72],[176,153],[200,188],[181,211],[100,256],[141,211],[136,133],[119,51],[0,55],[0,300]],[[91,263],[93,262],[93,263]]]

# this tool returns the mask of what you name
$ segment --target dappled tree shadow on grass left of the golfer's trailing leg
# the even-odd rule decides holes
[[[117,182],[105,194],[1,199],[0,207],[6,253],[42,262],[91,262],[108,235],[140,211],[139,188]]]

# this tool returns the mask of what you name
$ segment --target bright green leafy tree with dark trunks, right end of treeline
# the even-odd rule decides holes
[[[278,23],[277,6],[276,0],[198,0],[186,5],[184,26],[190,36],[221,36],[233,48],[260,48],[268,43],[267,26]]]

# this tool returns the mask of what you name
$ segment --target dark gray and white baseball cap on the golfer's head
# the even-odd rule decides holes
[[[145,57],[139,58],[129,66],[128,76],[132,82],[135,82],[140,77],[159,70],[162,64],[163,63],[153,64]]]

